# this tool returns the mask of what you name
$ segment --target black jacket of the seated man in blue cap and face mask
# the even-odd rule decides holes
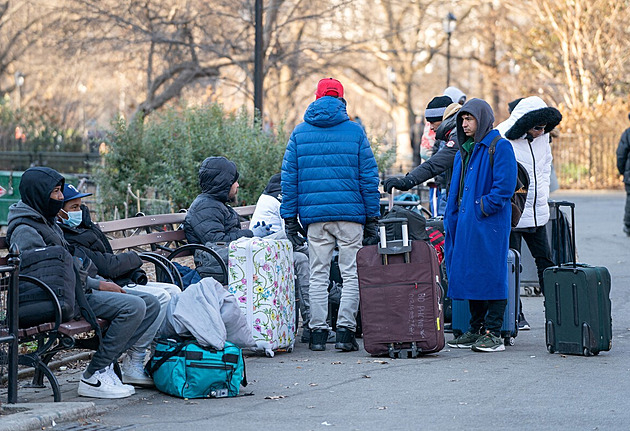
[[[100,276],[114,280],[118,284],[121,284],[121,281],[127,281],[131,273],[142,266],[142,259],[132,251],[114,254],[107,237],[98,226],[92,223],[88,208],[81,205],[81,210],[83,221],[78,227],[59,224],[66,241],[90,258],[98,268]]]

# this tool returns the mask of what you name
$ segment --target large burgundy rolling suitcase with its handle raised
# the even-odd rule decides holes
[[[399,224],[393,239],[385,225]],[[363,344],[372,355],[416,357],[444,348],[439,266],[435,249],[410,241],[406,219],[379,223],[381,242],[357,253]]]

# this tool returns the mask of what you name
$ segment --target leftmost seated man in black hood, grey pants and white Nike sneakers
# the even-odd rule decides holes
[[[9,208],[7,229],[7,242],[16,244],[21,253],[56,245],[74,251],[55,222],[63,207],[64,183],[61,174],[46,167],[30,168],[22,175],[22,199]],[[85,261],[87,257],[83,259],[84,265],[90,263]],[[88,276],[82,285],[89,307],[96,317],[108,320],[110,325],[81,376],[79,395],[93,398],[133,395],[133,386],[124,385],[112,365],[155,321],[160,304],[153,295],[131,289],[126,292],[100,277]]]

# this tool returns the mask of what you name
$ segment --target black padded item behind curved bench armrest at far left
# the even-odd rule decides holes
[[[76,317],[80,312],[75,292],[78,280],[73,257],[68,250],[60,245],[54,245],[27,250],[20,257],[20,275],[35,277],[53,290],[61,305],[62,321],[67,322]],[[26,328],[54,321],[53,302],[33,283],[20,281],[18,301],[20,327]]]

